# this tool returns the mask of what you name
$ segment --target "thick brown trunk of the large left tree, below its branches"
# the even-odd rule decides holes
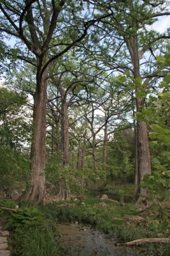
[[[26,200],[40,202],[45,196],[46,161],[46,81],[47,70],[41,81],[37,79],[33,109],[33,141],[31,146],[31,190]]]

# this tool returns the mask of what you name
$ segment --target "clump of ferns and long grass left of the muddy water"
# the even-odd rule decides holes
[[[6,205],[11,205],[7,203]],[[56,256],[59,243],[54,223],[38,207],[22,207],[6,216],[14,239],[13,256]]]

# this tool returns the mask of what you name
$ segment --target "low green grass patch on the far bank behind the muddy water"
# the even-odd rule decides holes
[[[89,202],[96,202],[89,205]],[[52,218],[60,221],[80,221],[94,225],[99,230],[103,230],[106,234],[114,236],[119,242],[132,241],[143,237],[153,237],[151,230],[145,227],[136,227],[135,225],[125,225],[124,217],[128,214],[136,214],[134,205],[115,205],[107,204],[106,207],[99,206],[99,200],[92,199],[77,203],[71,207],[57,207],[57,205],[48,205],[43,207],[43,211],[52,212]],[[118,219],[120,218],[120,220]],[[122,220],[121,220],[122,218]]]

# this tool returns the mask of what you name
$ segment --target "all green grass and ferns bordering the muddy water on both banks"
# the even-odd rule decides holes
[[[83,202],[58,202],[39,207],[24,204],[17,214],[6,214],[7,227],[13,232],[15,244],[12,256],[64,255],[55,230],[57,221],[78,221],[92,225],[113,237],[118,243],[159,235],[153,227],[146,225],[145,221],[139,225],[127,225],[127,218],[138,215],[134,205],[121,205],[106,200],[105,207],[102,207],[101,202],[99,198],[89,196]],[[15,202],[11,201],[1,204],[15,207]],[[1,216],[3,215],[4,212],[1,211]],[[169,256],[170,244],[146,246],[149,256]]]

